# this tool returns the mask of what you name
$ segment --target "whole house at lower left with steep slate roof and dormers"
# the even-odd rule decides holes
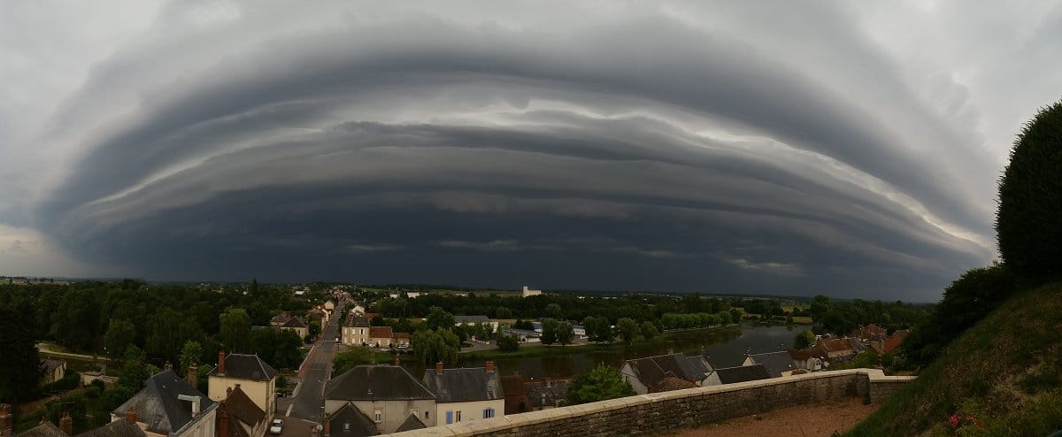
[[[136,422],[149,437],[215,437],[217,408],[215,401],[168,368],[110,412],[110,420]]]

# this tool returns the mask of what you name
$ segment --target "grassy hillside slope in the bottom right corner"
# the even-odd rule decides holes
[[[846,435],[1046,436],[1062,430],[1060,374],[1062,282],[1008,299]]]

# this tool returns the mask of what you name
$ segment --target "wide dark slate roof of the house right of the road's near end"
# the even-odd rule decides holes
[[[435,399],[435,396],[401,366],[358,366],[329,380],[325,399],[393,401]]]

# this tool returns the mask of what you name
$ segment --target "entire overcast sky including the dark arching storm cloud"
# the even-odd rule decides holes
[[[0,274],[936,300],[1060,2],[10,2]]]

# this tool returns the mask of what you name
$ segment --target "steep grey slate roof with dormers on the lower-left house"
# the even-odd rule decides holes
[[[162,370],[144,381],[142,390],[110,413],[125,417],[132,406],[137,421],[147,423],[148,431],[168,434],[192,421],[191,402],[177,399],[181,395],[200,397],[200,412],[215,404],[173,370]]]

